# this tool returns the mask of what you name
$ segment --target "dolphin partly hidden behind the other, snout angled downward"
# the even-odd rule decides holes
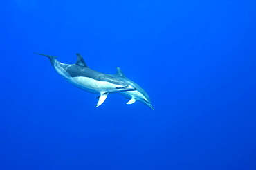
[[[131,105],[135,103],[136,100],[138,100],[141,103],[144,103],[145,105],[150,107],[152,110],[154,110],[154,108],[151,105],[151,100],[149,98],[149,95],[147,95],[145,90],[141,88],[137,83],[127,78],[119,67],[117,67],[116,69],[117,69],[116,74],[109,74],[109,75],[115,78],[118,78],[121,81],[124,81],[125,83],[127,83],[127,85],[131,85],[131,87],[136,88],[136,90],[134,91],[125,91],[125,92],[119,93],[122,96],[125,96],[126,98],[130,99],[126,104]]]

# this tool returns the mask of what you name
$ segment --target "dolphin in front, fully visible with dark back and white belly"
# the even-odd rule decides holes
[[[136,89],[131,85],[127,85],[124,81],[120,81],[118,78],[91,70],[86,65],[82,56],[78,53],[76,54],[77,62],[75,64],[60,63],[60,61],[55,59],[57,56],[50,56],[46,54],[39,55],[47,56],[55,71],[69,83],[86,92],[100,94],[100,96],[98,96],[98,103],[96,107],[99,107],[104,103],[104,100],[106,100],[109,93],[125,92]]]

